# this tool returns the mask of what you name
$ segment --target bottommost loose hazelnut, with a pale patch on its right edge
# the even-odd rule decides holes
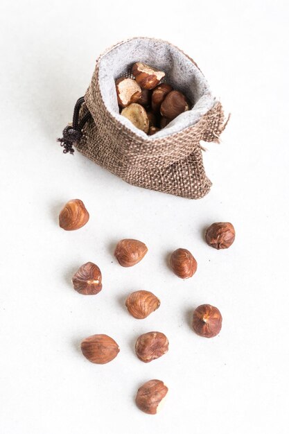
[[[144,413],[155,415],[159,413],[161,401],[163,401],[167,393],[168,388],[163,381],[150,380],[139,388],[135,402]]]

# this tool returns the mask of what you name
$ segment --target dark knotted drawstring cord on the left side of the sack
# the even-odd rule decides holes
[[[73,111],[73,120],[72,125],[67,125],[62,132],[62,138],[58,139],[60,141],[60,146],[63,146],[64,154],[73,155],[73,143],[78,143],[82,137],[82,128],[85,126],[85,123],[91,118],[91,114],[89,112],[85,113],[85,116],[78,123],[79,119],[79,111],[82,104],[85,102],[85,98],[82,96],[76,101],[76,105]]]

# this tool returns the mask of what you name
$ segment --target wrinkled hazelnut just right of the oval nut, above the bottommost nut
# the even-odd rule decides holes
[[[144,363],[164,356],[168,352],[168,338],[159,331],[150,331],[137,338],[135,352]]]

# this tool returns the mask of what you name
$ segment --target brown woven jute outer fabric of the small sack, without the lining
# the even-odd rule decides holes
[[[205,196],[211,181],[204,171],[200,141],[219,141],[225,128],[222,105],[217,102],[198,123],[175,134],[153,140],[139,137],[105,107],[99,86],[100,59],[85,94],[86,107],[82,107],[82,114],[89,110],[92,119],[76,148],[129,184],[190,199]]]

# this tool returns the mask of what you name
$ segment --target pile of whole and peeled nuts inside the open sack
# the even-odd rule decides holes
[[[166,127],[179,114],[190,110],[191,103],[182,92],[168,83],[160,83],[166,75],[142,62],[132,66],[135,78],[116,80],[116,95],[121,114],[148,135]]]

